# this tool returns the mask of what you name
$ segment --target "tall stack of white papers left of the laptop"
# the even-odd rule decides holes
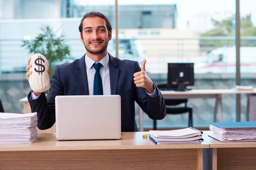
[[[32,143],[37,139],[37,113],[0,113],[0,143]]]

